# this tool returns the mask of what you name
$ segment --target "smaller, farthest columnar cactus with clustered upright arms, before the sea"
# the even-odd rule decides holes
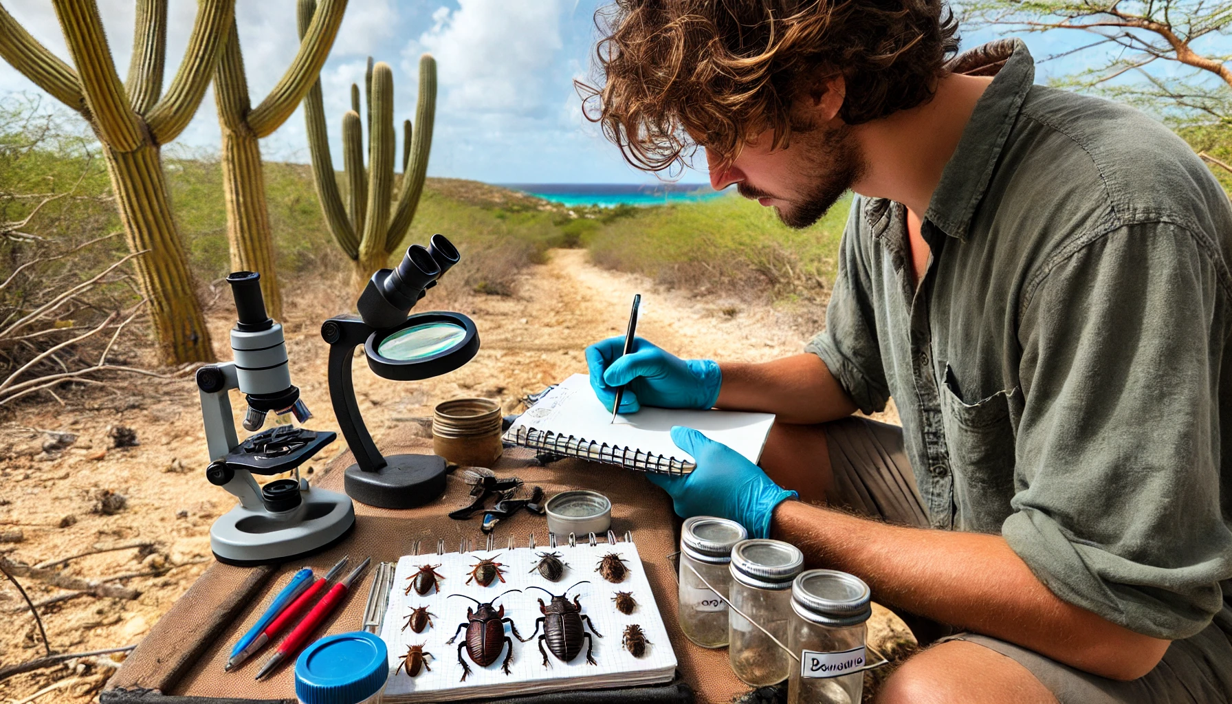
[[[299,27],[313,16],[315,0],[299,0]],[[363,128],[360,118],[359,86],[351,85],[351,110],[342,116],[342,165],[347,182],[344,206],[329,153],[325,132],[325,107],[320,81],[304,99],[308,148],[312,152],[313,179],[325,223],[339,247],[355,261],[359,286],[382,269],[389,254],[398,249],[411,221],[428,175],[428,157],[432,147],[432,121],[436,115],[436,60],[430,54],[419,58],[419,101],[415,125],[403,121],[402,182],[391,213],[394,189],[393,72],[384,62],[372,63],[365,75],[367,102],[367,168],[365,169]]]

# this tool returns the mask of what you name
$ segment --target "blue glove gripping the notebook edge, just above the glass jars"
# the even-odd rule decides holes
[[[729,518],[743,525],[749,538],[769,538],[774,507],[797,496],[774,483],[744,455],[692,428],[674,427],[671,441],[697,460],[697,469],[683,477],[648,473],[647,478],[671,496],[680,518]]]

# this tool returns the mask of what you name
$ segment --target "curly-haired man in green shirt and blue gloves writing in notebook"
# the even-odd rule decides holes
[[[1185,143],[1034,85],[1016,39],[954,57],[941,0],[600,20],[580,88],[630,163],[701,147],[800,228],[855,192],[804,354],[586,350],[622,412],[777,415],[760,467],[673,429],[697,469],[652,481],[676,513],[787,540],[935,641],[881,702],[1228,702],[1232,208]],[[854,414],[891,397],[902,428]]]

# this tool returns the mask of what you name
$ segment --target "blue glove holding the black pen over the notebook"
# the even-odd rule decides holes
[[[622,351],[625,338],[607,338],[586,348],[590,386],[609,411],[616,402],[616,387],[623,385],[627,386],[620,399],[621,413],[637,413],[643,403],[705,411],[718,401],[718,387],[723,383],[718,362],[684,360],[642,338],[633,338],[633,351],[621,355]]]

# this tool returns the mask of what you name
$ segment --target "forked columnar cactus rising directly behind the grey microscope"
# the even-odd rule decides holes
[[[274,237],[257,139],[281,127],[312,89],[334,46],[345,10],[346,0],[323,0],[318,11],[304,17],[299,52],[269,97],[256,108],[250,107],[244,55],[234,18],[214,72],[214,102],[223,134],[223,191],[232,270],[261,272],[265,306],[275,318],[282,317],[282,293],[274,266]]]

